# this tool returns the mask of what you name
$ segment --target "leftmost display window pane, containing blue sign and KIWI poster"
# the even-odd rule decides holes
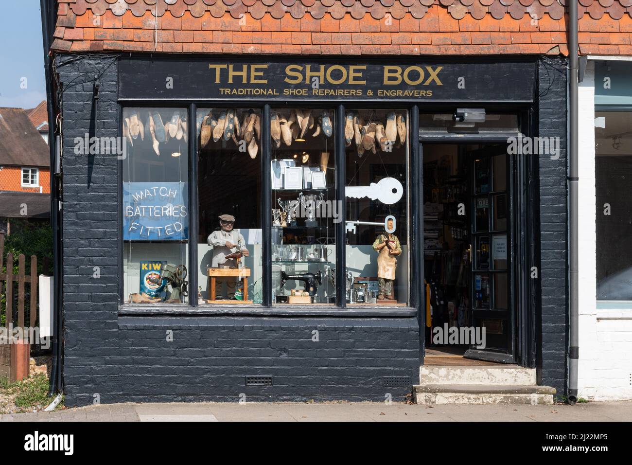
[[[185,108],[125,108],[124,298],[188,301],[188,121]]]

